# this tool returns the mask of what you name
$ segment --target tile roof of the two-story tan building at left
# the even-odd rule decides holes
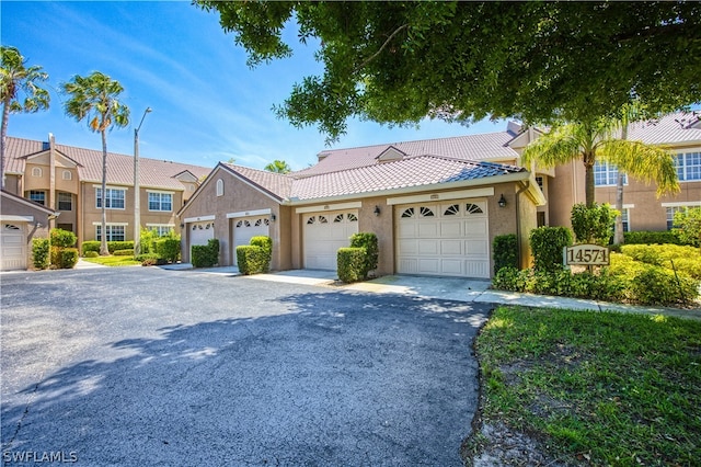
[[[48,144],[31,139],[8,137],[8,173],[23,173],[27,157],[48,150]],[[78,163],[82,182],[102,181],[102,151],[73,146],[56,145],[56,150]],[[189,171],[197,178],[208,175],[210,168],[166,160],[139,158],[139,183],[142,186],[182,191],[183,184],[175,175]],[[107,183],[134,184],[134,157],[115,152],[107,153]]]

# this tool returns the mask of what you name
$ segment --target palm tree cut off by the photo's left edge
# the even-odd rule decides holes
[[[4,187],[4,152],[8,138],[10,113],[34,113],[48,109],[48,91],[37,82],[46,81],[48,73],[42,67],[26,67],[26,59],[15,47],[0,46],[2,66],[0,67],[0,98],[2,99],[2,127],[0,129],[0,190]],[[24,101],[18,98],[24,93]]]

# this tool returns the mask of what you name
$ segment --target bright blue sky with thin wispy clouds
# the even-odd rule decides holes
[[[294,57],[250,69],[233,36],[223,33],[216,13],[189,1],[156,2],[0,2],[0,41],[18,47],[27,65],[49,73],[49,111],[12,114],[10,136],[101,149],[99,134],[64,114],[60,84],[74,75],[101,71],[119,81],[131,124],[107,136],[110,151],[131,155],[134,127],[147,107],[139,133],[140,155],[214,167],[231,158],[262,169],[281,159],[294,170],[317,160],[325,148],[315,127],[298,129],[271,110],[281,104],[292,84],[319,75],[311,46],[297,45]],[[295,31],[286,31],[297,44]],[[350,121],[347,135],[334,144],[347,148],[502,132],[505,122],[470,127],[426,121],[415,128],[388,128]]]

